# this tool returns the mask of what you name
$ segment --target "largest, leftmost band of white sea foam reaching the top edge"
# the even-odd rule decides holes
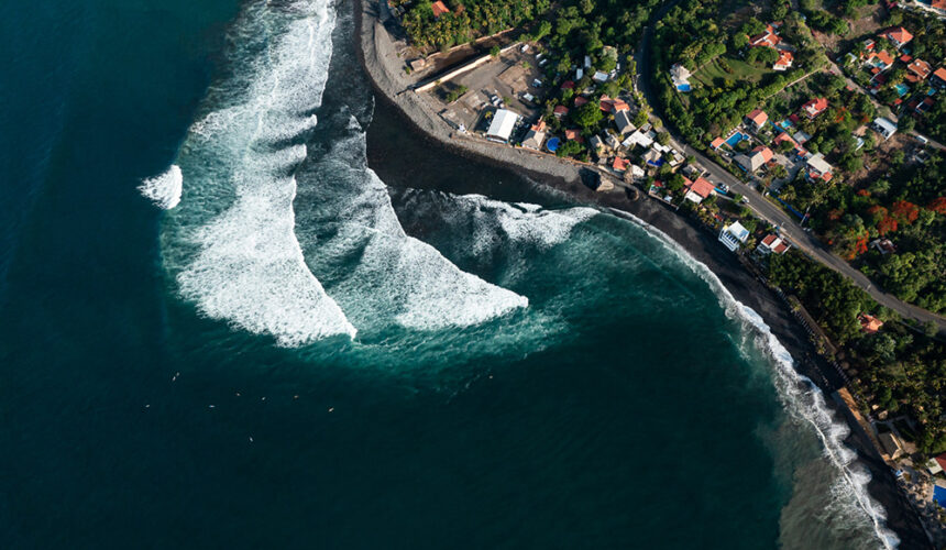
[[[246,7],[233,29],[234,76],[211,89],[212,110],[182,148],[193,185],[165,239],[199,311],[283,345],[355,334],[295,238],[294,173],[307,151],[286,145],[316,124],[333,28],[324,0]]]

